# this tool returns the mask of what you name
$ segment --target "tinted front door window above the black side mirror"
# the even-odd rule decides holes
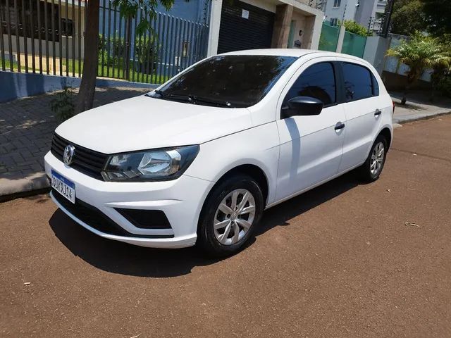
[[[316,63],[304,70],[292,85],[283,106],[295,96],[310,96],[323,101],[324,106],[335,103],[335,74],[329,62]]]

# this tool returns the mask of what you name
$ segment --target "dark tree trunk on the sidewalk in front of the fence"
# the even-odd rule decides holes
[[[85,58],[75,113],[92,108],[99,65],[99,0],[87,1]]]

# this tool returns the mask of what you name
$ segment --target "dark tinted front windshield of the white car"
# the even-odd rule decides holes
[[[290,56],[214,56],[178,75],[152,96],[229,108],[253,106],[295,60]]]

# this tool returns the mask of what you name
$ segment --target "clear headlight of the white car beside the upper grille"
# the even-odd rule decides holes
[[[110,156],[101,172],[106,181],[174,180],[190,166],[199,146],[135,151]]]

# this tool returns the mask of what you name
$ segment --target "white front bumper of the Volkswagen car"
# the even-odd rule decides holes
[[[78,201],[92,206],[130,235],[100,231],[70,212],[53,194],[51,198],[75,222],[101,237],[139,246],[181,248],[192,246],[197,238],[197,222],[202,204],[214,182],[182,175],[177,180],[163,182],[104,182],[64,165],[50,152],[44,157],[45,170],[51,176],[55,170],[75,183]],[[69,202],[70,203],[70,202]],[[135,227],[116,208],[160,210],[166,214],[171,229],[142,229]]]

